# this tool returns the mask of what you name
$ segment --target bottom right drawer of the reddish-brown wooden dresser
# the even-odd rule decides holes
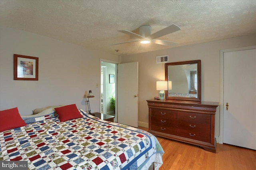
[[[192,130],[177,129],[177,136],[190,138],[194,140],[200,140],[203,142],[210,142],[210,132],[195,132]]]

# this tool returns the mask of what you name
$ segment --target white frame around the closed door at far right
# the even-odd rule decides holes
[[[223,144],[224,130],[224,53],[232,51],[243,51],[248,49],[256,49],[256,45],[220,50],[220,134],[217,140],[217,143],[220,144]]]

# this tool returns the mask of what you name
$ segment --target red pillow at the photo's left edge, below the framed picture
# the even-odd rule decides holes
[[[18,108],[0,111],[0,132],[11,128],[24,127],[27,124],[20,117]]]

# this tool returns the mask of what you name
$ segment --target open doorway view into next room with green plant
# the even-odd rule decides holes
[[[115,116],[116,64],[101,61],[100,79],[100,112],[106,115]]]

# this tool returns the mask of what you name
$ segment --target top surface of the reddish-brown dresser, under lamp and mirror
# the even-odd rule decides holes
[[[181,101],[181,100],[156,100],[156,99],[149,99],[147,100],[148,103],[164,103],[170,105],[193,105],[193,106],[209,106],[209,107],[218,107],[218,102],[208,102],[208,101]]]

